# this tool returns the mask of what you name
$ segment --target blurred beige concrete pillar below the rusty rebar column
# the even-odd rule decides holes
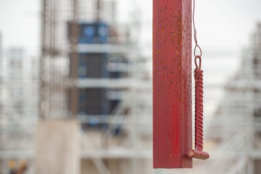
[[[80,137],[76,121],[39,122],[36,174],[80,174]]]

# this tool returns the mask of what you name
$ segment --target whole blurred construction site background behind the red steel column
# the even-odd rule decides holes
[[[152,0],[0,0],[0,174],[261,174],[260,6],[196,0],[210,159],[153,170]]]

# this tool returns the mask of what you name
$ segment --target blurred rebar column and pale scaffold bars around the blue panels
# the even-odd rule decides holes
[[[110,163],[113,159],[124,159],[126,161],[126,163],[122,164],[126,166],[124,169],[122,169],[121,165],[119,166],[121,173],[137,174],[138,160],[149,159],[150,154],[150,151],[144,150],[146,147],[142,147],[141,143],[144,141],[142,140],[143,137],[150,137],[150,131],[141,132],[140,130],[144,129],[144,125],[146,128],[151,126],[150,121],[148,121],[149,117],[146,117],[146,115],[151,114],[151,104],[147,102],[149,96],[151,96],[151,80],[146,77],[147,71],[139,68],[144,66],[146,59],[139,53],[134,41],[128,41],[129,36],[127,36],[130,34],[133,37],[134,31],[132,30],[137,30],[133,28],[138,27],[139,21],[135,19],[133,23],[136,26],[129,25],[126,27],[129,31],[121,36],[126,38],[124,43],[78,44],[76,42],[78,35],[76,28],[73,31],[72,38],[69,38],[73,42],[68,42],[66,23],[71,21],[76,25],[81,21],[90,22],[99,18],[117,30],[117,27],[121,27],[121,25],[118,25],[114,15],[111,15],[115,12],[110,12],[106,8],[106,5],[110,5],[109,2],[112,2],[111,4],[114,6],[114,0],[42,0],[42,2],[41,118],[79,118],[80,122],[88,123],[88,119],[82,120],[81,118],[88,118],[92,115],[77,115],[77,102],[72,102],[69,110],[66,108],[68,92],[70,98],[76,101],[78,96],[77,88],[105,87],[121,89],[121,102],[111,115],[107,115],[109,119],[100,120],[109,125],[107,131],[81,131],[81,157],[83,160],[92,160],[100,174],[111,173],[107,163]],[[136,14],[133,13],[132,15]],[[114,38],[110,39],[114,40]],[[125,55],[129,64],[123,68],[126,68],[124,71],[127,72],[128,77],[117,80],[106,78],[78,79],[77,54],[81,52],[106,52],[108,54]],[[68,72],[68,53],[73,55],[71,77],[64,73]],[[111,92],[110,95],[114,95],[114,93]],[[144,108],[149,109],[144,111]],[[139,122],[142,122],[142,120],[143,123],[140,124]],[[117,137],[114,136],[114,132],[119,123],[123,123],[121,129],[125,133]],[[115,141],[119,143],[115,144]],[[117,148],[115,149],[114,146]]]

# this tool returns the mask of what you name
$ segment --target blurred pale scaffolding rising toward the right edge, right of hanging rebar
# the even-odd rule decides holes
[[[202,174],[261,173],[261,24],[241,60],[237,73],[222,87],[213,117],[205,119],[211,158],[198,166]]]

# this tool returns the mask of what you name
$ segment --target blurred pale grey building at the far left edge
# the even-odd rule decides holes
[[[39,58],[27,57],[22,48],[10,48],[2,57],[1,173],[31,159],[39,105]],[[24,153],[28,152],[28,153]],[[11,162],[10,162],[11,161]],[[9,165],[12,164],[12,165]]]

